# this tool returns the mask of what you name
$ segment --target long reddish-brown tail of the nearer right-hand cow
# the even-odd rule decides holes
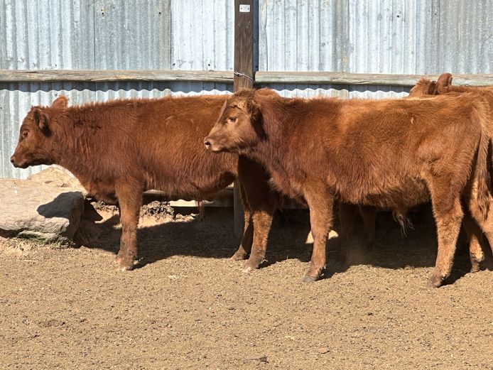
[[[477,158],[476,158],[476,168],[475,177],[477,179],[477,194],[476,201],[477,207],[480,210],[483,219],[487,219],[487,214],[489,211],[489,188],[490,188],[490,173],[489,168],[491,165],[492,158],[489,158],[489,120],[487,114],[484,113],[485,109],[477,109],[475,112],[475,118],[481,124],[481,136],[480,143],[477,147]]]

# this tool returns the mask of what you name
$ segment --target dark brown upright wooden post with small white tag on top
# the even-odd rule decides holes
[[[234,0],[233,91],[254,87],[254,0]],[[234,234],[243,235],[244,215],[239,185],[234,183]]]

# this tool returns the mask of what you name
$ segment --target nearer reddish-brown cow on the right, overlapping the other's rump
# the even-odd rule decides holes
[[[438,255],[430,278],[450,275],[464,197],[478,222],[489,207],[487,117],[481,99],[286,99],[269,89],[229,97],[205,138],[214,152],[263,163],[279,190],[310,208],[313,254],[303,281],[325,268],[325,241],[337,198],[401,209],[430,193]]]

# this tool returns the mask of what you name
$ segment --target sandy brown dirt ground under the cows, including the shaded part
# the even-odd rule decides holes
[[[374,249],[357,230],[347,263],[329,253],[308,285],[304,210],[276,214],[250,274],[229,259],[231,209],[144,217],[129,272],[114,265],[117,214],[100,212],[80,248],[1,240],[0,369],[493,369],[491,260],[467,273],[462,248],[450,283],[428,288],[429,210],[407,237],[379,214]]]

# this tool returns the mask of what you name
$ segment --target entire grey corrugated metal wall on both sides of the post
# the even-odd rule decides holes
[[[232,70],[232,0],[2,0],[0,69]],[[493,0],[255,0],[261,71],[492,73]],[[271,85],[287,96],[395,97],[390,86]],[[0,177],[31,105],[231,91],[226,84],[0,83]]]

